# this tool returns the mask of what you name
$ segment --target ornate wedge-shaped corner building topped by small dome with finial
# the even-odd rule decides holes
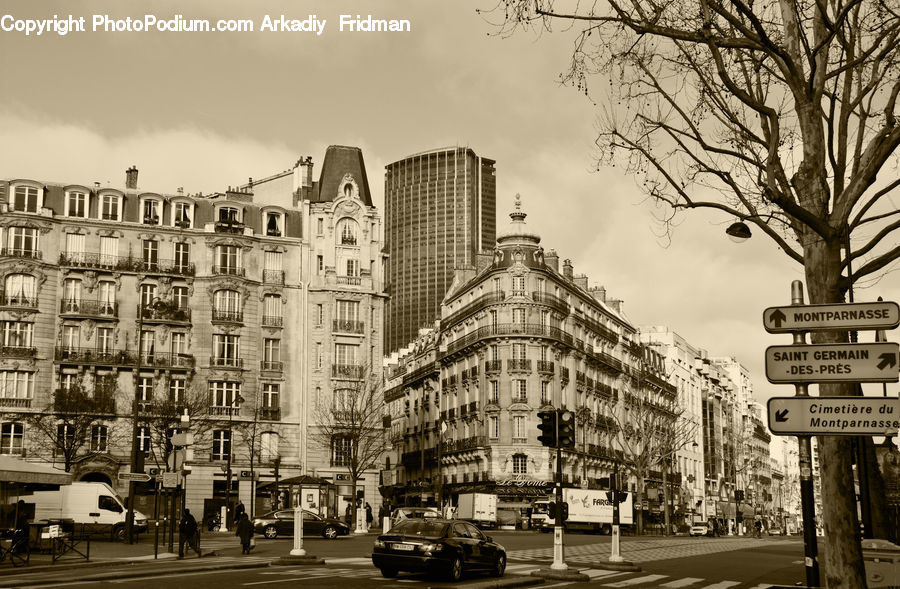
[[[563,485],[608,488],[611,412],[638,388],[675,396],[649,371],[662,359],[638,343],[621,301],[589,288],[568,260],[560,271],[518,198],[510,218],[493,252],[456,274],[440,321],[387,367],[394,456],[383,492],[394,504],[487,492],[506,512],[498,519],[523,518],[553,488],[556,452],[537,440],[537,413],[554,408],[578,419],[576,446],[562,452]]]

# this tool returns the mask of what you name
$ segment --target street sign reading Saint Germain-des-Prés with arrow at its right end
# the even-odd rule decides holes
[[[897,382],[894,342],[802,344],[766,348],[766,378],[771,383]]]

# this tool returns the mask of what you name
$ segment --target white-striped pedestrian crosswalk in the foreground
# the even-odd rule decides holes
[[[315,580],[323,577],[340,577],[347,579],[368,579],[383,581],[393,584],[422,583],[425,579],[422,575],[401,575],[396,579],[385,579],[377,569],[372,566],[370,558],[328,558],[327,567],[291,567],[280,570],[266,570],[260,573],[264,577],[261,581],[244,583],[246,586],[265,586],[286,580],[287,578],[302,580]],[[510,563],[506,568],[507,575],[530,575],[533,571],[545,568],[546,565],[534,563]],[[590,577],[590,584],[609,589],[767,589],[776,583],[748,584],[742,581],[704,579],[701,577],[672,577],[669,575],[654,574],[648,572],[622,572],[596,568],[579,568],[579,572]],[[563,586],[570,583],[554,581],[554,586]],[[575,584],[575,583],[571,583]]]

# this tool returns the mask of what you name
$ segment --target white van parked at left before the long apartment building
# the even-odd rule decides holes
[[[35,491],[23,499],[34,503],[35,522],[68,519],[75,522],[79,532],[83,524],[85,532],[125,539],[127,509],[106,483],[72,483],[58,491]],[[147,516],[139,511],[134,512],[134,529],[137,532],[147,529]]]

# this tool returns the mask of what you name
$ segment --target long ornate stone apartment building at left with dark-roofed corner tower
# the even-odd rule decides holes
[[[0,212],[0,453],[124,495],[134,411],[145,466],[164,471],[187,409],[198,515],[224,500],[229,465],[248,509],[277,477],[341,471],[307,434],[312,396],[381,358],[380,218],[357,148],[330,147],[319,182],[306,158],[209,195],[143,190],[137,168],[124,187],[4,180]],[[84,432],[34,425],[81,396]]]

